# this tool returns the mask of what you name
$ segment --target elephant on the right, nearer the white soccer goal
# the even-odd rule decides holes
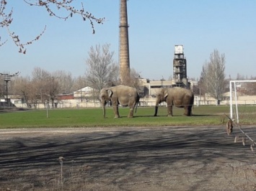
[[[159,103],[167,103],[167,116],[172,116],[172,106],[185,108],[185,116],[192,116],[194,94],[186,88],[160,88],[156,94],[156,106],[154,116],[157,115]]]

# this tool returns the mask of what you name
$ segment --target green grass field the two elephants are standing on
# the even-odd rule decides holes
[[[193,116],[183,116],[183,108],[174,108],[172,117],[167,117],[167,108],[159,107],[154,117],[154,107],[138,108],[133,118],[127,118],[128,108],[120,107],[120,118],[114,118],[112,108],[49,109],[32,111],[1,111],[0,129],[38,127],[107,127],[107,126],[203,126],[222,125],[224,113],[229,115],[229,106],[194,106]]]

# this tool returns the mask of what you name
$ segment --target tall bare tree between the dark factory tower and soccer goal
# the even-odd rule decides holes
[[[225,90],[225,62],[225,55],[220,55],[218,50],[214,50],[210,55],[210,61],[203,65],[200,76],[206,93],[217,101],[221,100]]]

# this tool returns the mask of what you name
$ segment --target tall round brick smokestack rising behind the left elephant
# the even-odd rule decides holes
[[[130,81],[130,57],[128,40],[127,0],[120,0],[120,25],[119,25],[119,76],[120,85]]]

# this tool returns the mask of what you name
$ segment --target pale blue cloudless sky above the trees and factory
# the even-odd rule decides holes
[[[77,0],[77,6],[82,0]],[[49,17],[45,9],[23,1],[8,1],[13,7],[11,29],[23,41],[47,29],[39,41],[18,48],[0,29],[0,72],[31,75],[34,67],[48,71],[65,70],[84,75],[85,60],[91,46],[109,43],[118,62],[119,0],[86,0],[84,7],[95,17],[105,17],[105,24],[95,24],[76,16],[64,22]],[[175,45],[183,45],[187,58],[187,76],[199,78],[202,66],[213,50],[226,55],[226,78],[256,76],[256,1],[255,0],[129,0],[128,23],[130,65],[143,78],[159,80],[172,75]]]

